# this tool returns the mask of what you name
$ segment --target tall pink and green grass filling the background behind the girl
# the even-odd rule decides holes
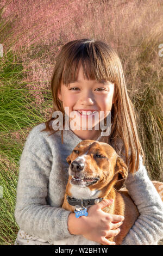
[[[0,244],[13,245],[19,160],[29,131],[52,108],[50,80],[62,45],[108,42],[119,54],[134,103],[145,164],[162,174],[163,2],[135,0],[1,0],[0,2]]]

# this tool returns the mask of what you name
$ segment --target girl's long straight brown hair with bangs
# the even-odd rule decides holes
[[[103,41],[79,39],[62,46],[51,80],[53,110],[51,117],[45,122],[46,128],[42,131],[49,131],[50,135],[57,132],[49,126],[49,122],[55,119],[52,117],[54,111],[62,112],[63,126],[65,125],[64,108],[58,99],[58,90],[61,82],[68,86],[70,81],[76,80],[79,63],[83,66],[83,75],[87,80],[105,79],[115,84],[115,102],[111,108],[111,133],[109,136],[103,136],[101,141],[112,145],[121,157],[125,156],[130,173],[134,173],[139,167],[139,154],[143,155],[143,163],[145,162],[137,134],[134,106],[127,93],[121,60],[112,47]],[[62,130],[61,135],[63,143]],[[118,148],[118,141],[123,142],[121,148]]]

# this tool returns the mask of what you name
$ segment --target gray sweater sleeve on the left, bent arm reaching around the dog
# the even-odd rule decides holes
[[[47,204],[54,160],[46,138],[35,132],[36,127],[30,131],[20,159],[14,216],[19,227],[28,234],[55,241],[74,236],[67,228],[71,211]]]

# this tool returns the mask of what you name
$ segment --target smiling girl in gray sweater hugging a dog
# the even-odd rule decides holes
[[[83,235],[90,245],[91,242],[114,245],[106,237],[120,232],[123,216],[102,211],[111,204],[109,200],[90,206],[89,215],[78,219],[61,208],[68,180],[66,157],[83,139],[109,143],[128,165],[126,188],[140,216],[122,245],[157,244],[163,236],[163,205],[143,165],[134,107],[116,52],[102,41],[68,42],[57,57],[51,87],[51,118],[30,131],[20,159],[15,218],[21,229],[15,245],[53,245],[74,235]],[[55,111],[64,117],[63,130],[53,129],[57,120],[53,117]],[[76,116],[71,115],[72,111]],[[93,119],[90,130],[86,114],[100,111],[104,118]],[[111,131],[102,136],[101,127],[98,130],[95,127],[106,121],[107,113],[111,113]],[[65,128],[66,117],[69,129]],[[72,129],[74,123],[76,128]]]

